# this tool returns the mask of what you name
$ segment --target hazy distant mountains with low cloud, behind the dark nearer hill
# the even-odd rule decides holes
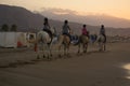
[[[90,14],[83,13],[82,15],[76,11],[63,10],[63,9],[42,9],[40,12],[43,16],[48,16],[52,19],[64,20],[87,24],[92,26],[105,25],[106,27],[114,28],[130,28],[130,19],[114,17],[106,14]]]

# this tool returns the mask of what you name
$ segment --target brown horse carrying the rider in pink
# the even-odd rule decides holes
[[[82,51],[83,53],[87,53],[87,48],[88,48],[88,43],[89,43],[89,38],[87,35],[79,35],[79,41],[76,45],[78,45],[78,53],[80,53],[81,51],[81,45],[82,45]]]

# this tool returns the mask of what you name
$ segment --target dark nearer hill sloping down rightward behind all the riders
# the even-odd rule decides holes
[[[0,4],[0,27],[3,24],[8,24],[9,26],[15,24],[17,26],[17,31],[38,31],[42,29],[43,18],[43,15],[30,12],[21,6]],[[58,32],[61,31],[63,20],[49,19],[49,23],[51,26],[55,27]],[[75,33],[80,34],[82,24],[69,22],[69,26]],[[87,28],[90,33],[99,33],[100,30],[100,26],[88,25]],[[106,27],[106,33],[107,35],[130,34],[130,29]]]

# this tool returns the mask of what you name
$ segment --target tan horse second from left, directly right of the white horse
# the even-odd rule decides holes
[[[58,56],[61,57],[61,47],[64,47],[64,55],[68,55],[69,45],[70,45],[70,38],[66,34],[60,34],[57,39],[57,48],[58,48]]]

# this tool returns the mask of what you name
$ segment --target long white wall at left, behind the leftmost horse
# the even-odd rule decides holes
[[[34,35],[36,39],[36,33],[26,32],[0,32],[0,46],[2,47],[17,47],[17,42],[22,43],[22,46],[27,46],[29,40],[27,37],[29,34]]]

